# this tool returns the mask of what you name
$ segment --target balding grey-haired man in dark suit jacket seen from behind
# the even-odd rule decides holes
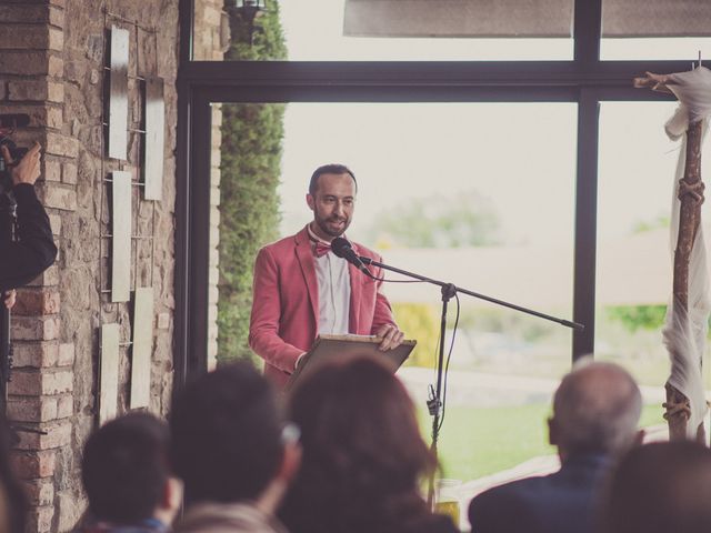
[[[577,365],[555,391],[549,419],[561,469],[490,489],[469,506],[472,533],[592,533],[611,457],[639,438],[641,394],[611,363]]]

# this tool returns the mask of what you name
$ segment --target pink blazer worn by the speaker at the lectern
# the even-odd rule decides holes
[[[377,253],[353,244],[359,255],[380,261]],[[369,266],[377,278],[381,269]],[[375,282],[349,265],[351,281],[350,333],[371,335],[383,324],[394,324],[392,310]],[[297,359],[317,338],[319,289],[309,233],[304,228],[262,248],[254,262],[249,345],[264,359],[264,374],[283,386]]]

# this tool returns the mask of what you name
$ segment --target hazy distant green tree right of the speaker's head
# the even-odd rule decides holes
[[[475,191],[413,199],[374,218],[370,242],[405,248],[462,248],[497,244],[499,219]]]

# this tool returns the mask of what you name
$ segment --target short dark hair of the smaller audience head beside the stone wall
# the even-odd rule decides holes
[[[168,425],[147,413],[116,419],[89,436],[81,475],[96,520],[134,524],[153,516],[170,477]]]

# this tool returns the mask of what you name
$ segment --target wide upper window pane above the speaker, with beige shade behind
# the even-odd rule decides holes
[[[233,2],[222,9],[221,0],[196,0],[193,56],[291,61],[572,59],[572,0],[515,6],[513,0],[267,0],[250,32]]]

